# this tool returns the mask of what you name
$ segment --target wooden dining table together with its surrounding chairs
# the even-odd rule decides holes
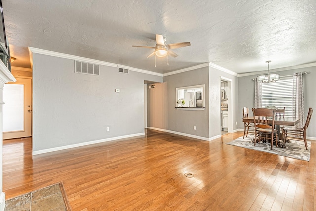
[[[291,141],[303,141],[305,149],[308,150],[306,132],[313,114],[309,108],[304,125],[300,125],[299,117],[285,116],[286,108],[265,107],[242,109],[242,122],[244,123],[243,139],[251,135],[253,146],[257,143],[270,143],[273,147],[287,148]]]

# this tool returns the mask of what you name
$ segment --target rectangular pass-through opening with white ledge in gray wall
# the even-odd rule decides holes
[[[176,107],[205,107],[204,89],[205,85],[176,88]]]

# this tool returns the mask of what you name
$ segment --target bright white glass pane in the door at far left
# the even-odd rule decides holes
[[[3,132],[24,130],[24,85],[4,84]]]

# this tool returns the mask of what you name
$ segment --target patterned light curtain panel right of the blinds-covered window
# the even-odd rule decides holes
[[[293,117],[299,118],[300,122],[296,127],[304,126],[304,91],[303,91],[303,73],[294,73],[293,75]]]

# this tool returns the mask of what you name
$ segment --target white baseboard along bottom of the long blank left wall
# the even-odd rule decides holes
[[[131,134],[131,135],[123,135],[123,136],[113,137],[113,138],[105,138],[105,139],[96,140],[96,141],[88,141],[88,142],[83,142],[83,143],[78,143],[78,144],[67,145],[67,146],[54,147],[54,148],[50,148],[50,149],[37,150],[37,151],[33,151],[32,155],[39,155],[39,154],[43,154],[43,153],[47,153],[47,152],[54,152],[54,151],[59,151],[59,150],[63,150],[63,149],[70,149],[70,148],[81,147],[81,146],[86,146],[86,145],[90,145],[90,144],[97,144],[97,143],[102,143],[102,142],[107,142],[107,141],[114,141],[114,140],[118,140],[118,139],[122,139],[122,138],[131,138],[131,137],[141,136],[141,135],[145,135],[145,133],[142,132],[142,133],[136,133],[136,134]]]

